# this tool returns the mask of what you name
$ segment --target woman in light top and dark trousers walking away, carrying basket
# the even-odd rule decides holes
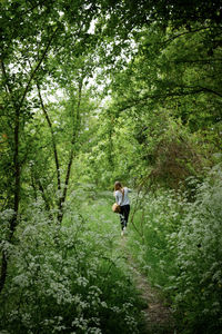
[[[128,194],[131,189],[123,187],[120,181],[114,183],[114,197],[115,203],[120,205],[120,224],[121,224],[121,235],[123,236],[125,227],[128,226],[128,218],[130,214],[130,199]]]

